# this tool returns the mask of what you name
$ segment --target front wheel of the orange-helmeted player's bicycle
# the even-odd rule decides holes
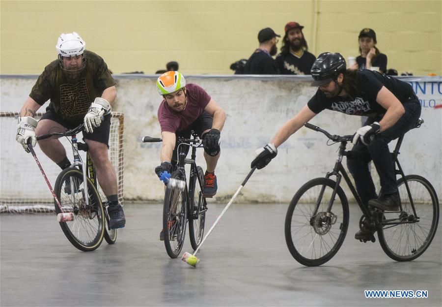
[[[185,180],[181,171],[173,172],[171,178]],[[164,245],[170,258],[176,258],[183,248],[184,238],[186,236],[186,221],[186,188],[179,190],[166,187],[163,206],[163,231]]]

